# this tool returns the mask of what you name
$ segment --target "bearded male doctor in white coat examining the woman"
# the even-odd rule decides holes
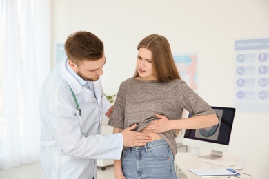
[[[106,56],[103,42],[90,32],[75,32],[65,44],[68,58],[43,83],[40,96],[43,178],[95,178],[97,158],[121,158],[123,145],[143,146],[149,134],[132,131],[101,136],[103,115],[111,103],[103,96],[99,76]]]

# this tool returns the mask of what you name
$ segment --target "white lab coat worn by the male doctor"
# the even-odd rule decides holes
[[[94,89],[96,98],[66,70],[66,61],[46,78],[40,98],[43,178],[97,178],[97,158],[121,157],[122,134],[100,135],[103,114],[111,104],[103,97],[100,80],[94,82]]]

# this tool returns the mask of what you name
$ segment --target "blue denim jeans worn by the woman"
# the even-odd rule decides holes
[[[127,147],[121,159],[122,171],[127,179],[177,179],[174,156],[163,139],[143,147]]]

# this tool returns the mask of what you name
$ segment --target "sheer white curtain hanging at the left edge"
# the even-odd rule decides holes
[[[39,92],[50,71],[49,20],[49,0],[1,0],[1,169],[39,161]]]

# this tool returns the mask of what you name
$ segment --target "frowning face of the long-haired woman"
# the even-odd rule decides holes
[[[137,55],[137,71],[141,80],[156,80],[152,66],[152,52],[146,48],[139,48]]]

